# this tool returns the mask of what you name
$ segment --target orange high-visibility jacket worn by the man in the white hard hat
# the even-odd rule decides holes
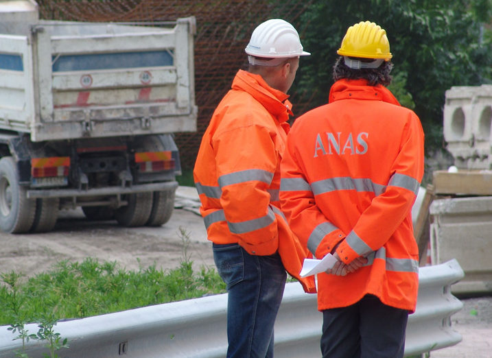
[[[239,243],[256,255],[278,251],[285,269],[314,292],[314,279],[299,277],[308,252],[280,211],[287,98],[260,75],[239,70],[204,133],[194,180],[209,240]]]

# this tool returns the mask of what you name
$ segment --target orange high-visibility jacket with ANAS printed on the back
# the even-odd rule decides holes
[[[318,309],[365,294],[414,311],[418,259],[411,208],[423,176],[423,130],[384,86],[339,80],[329,104],[299,117],[281,163],[281,208],[309,251],[368,263],[347,276],[318,274]]]

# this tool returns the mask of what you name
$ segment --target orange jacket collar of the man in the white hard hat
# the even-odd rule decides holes
[[[279,122],[285,122],[292,115],[289,95],[268,86],[261,75],[239,70],[233,80],[233,90],[244,91],[253,96]]]

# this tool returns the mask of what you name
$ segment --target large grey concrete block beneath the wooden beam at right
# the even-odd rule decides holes
[[[456,259],[465,272],[454,294],[492,293],[492,197],[434,200],[430,215],[432,265]]]

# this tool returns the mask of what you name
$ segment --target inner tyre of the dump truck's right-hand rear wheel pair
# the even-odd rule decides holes
[[[115,218],[123,226],[144,226],[152,211],[152,193],[136,193],[126,195],[128,205],[115,211]]]

